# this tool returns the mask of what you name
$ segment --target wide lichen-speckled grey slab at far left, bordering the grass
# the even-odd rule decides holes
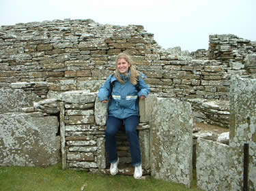
[[[59,162],[57,117],[34,114],[0,115],[0,166],[46,167]]]

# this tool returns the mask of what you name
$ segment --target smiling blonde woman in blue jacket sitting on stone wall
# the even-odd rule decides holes
[[[142,176],[141,150],[137,135],[139,124],[139,99],[145,99],[150,93],[150,87],[143,80],[143,73],[139,73],[128,54],[121,53],[116,59],[116,69],[110,75],[104,86],[98,92],[98,98],[102,103],[109,101],[109,116],[106,120],[106,151],[111,163],[110,173],[118,173],[116,135],[124,124],[126,136],[130,143],[132,166],[134,166],[134,178]]]

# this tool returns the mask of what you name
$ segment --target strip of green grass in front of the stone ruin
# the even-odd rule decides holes
[[[194,179],[192,188],[153,177],[134,179],[126,175],[102,175],[52,167],[0,167],[0,190],[6,191],[199,191]]]

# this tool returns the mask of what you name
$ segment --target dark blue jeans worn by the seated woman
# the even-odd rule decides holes
[[[139,116],[130,116],[124,120],[109,116],[106,121],[106,151],[109,154],[109,162],[117,161],[117,131],[122,125],[126,127],[126,136],[130,143],[130,154],[132,156],[132,166],[141,165],[141,150],[139,147],[139,138],[137,135],[137,126],[139,124]]]

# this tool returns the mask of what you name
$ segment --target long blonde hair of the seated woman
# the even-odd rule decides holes
[[[126,53],[120,53],[118,54],[115,62],[117,63],[117,60],[124,58],[124,60],[126,60],[127,63],[130,64],[130,82],[134,85],[137,84],[137,81],[139,80],[139,71],[137,71],[137,69],[132,65],[132,58],[130,58],[130,55],[126,54]],[[121,82],[122,84],[124,84],[124,80],[122,80],[122,78],[120,77],[119,71],[117,69],[117,65],[115,67],[115,76],[117,77],[117,80],[119,82]]]

